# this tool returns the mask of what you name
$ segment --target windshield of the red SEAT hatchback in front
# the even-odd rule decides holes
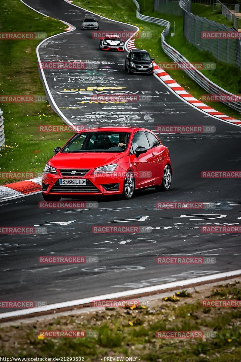
[[[75,135],[61,152],[123,152],[128,144],[127,132],[87,132]]]

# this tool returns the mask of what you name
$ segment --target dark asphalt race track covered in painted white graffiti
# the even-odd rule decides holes
[[[139,191],[131,200],[98,201],[98,209],[39,209],[40,193],[2,202],[3,226],[47,226],[42,235],[3,235],[0,244],[2,296],[6,300],[46,300],[48,304],[125,291],[240,268],[240,234],[202,233],[205,225],[240,225],[240,179],[205,179],[203,170],[239,170],[241,128],[209,117],[172,94],[155,76],[128,75],[126,52],[103,52],[91,31],[81,31],[88,12],[60,0],[26,4],[76,30],[55,36],[39,48],[41,61],[98,61],[98,69],[45,70],[48,86],[64,116],[74,125],[146,127],[212,125],[215,133],[159,135],[169,147],[171,190]],[[100,30],[135,30],[98,17]],[[44,29],[43,29],[44,31]],[[93,92],[151,95],[151,102],[94,104]],[[71,91],[74,89],[74,91]],[[115,93],[112,93],[115,94]],[[66,134],[66,140],[70,135]],[[61,146],[61,144],[56,144]],[[47,160],[46,160],[47,161]],[[215,209],[157,210],[158,201],[216,203]],[[94,234],[93,225],[149,226],[138,234]],[[41,265],[41,255],[97,256],[98,263]],[[216,264],[158,265],[158,255],[214,256]],[[17,298],[16,298],[17,296]],[[5,310],[7,311],[7,310]]]

